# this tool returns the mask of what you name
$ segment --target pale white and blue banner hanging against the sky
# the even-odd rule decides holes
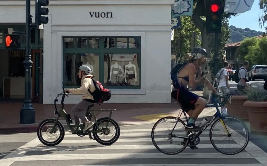
[[[251,10],[254,0],[226,0],[225,13],[245,13]]]

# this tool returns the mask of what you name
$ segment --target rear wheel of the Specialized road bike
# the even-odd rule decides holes
[[[163,117],[153,126],[151,139],[154,146],[164,154],[178,154],[186,148],[188,139],[177,138],[188,137],[188,131],[184,130],[185,123],[176,117]],[[182,142],[184,141],[184,144]]]

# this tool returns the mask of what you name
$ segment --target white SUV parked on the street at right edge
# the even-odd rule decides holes
[[[248,80],[263,79],[267,77],[267,65],[253,65],[252,69],[248,71]]]

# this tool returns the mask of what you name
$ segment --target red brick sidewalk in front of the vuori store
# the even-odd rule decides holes
[[[19,124],[19,113],[23,103],[0,103],[0,134],[7,133],[25,133],[36,132],[39,123],[47,118],[56,118],[54,116],[55,107],[53,104],[44,105],[33,103],[35,108],[35,123],[34,124]],[[60,105],[57,105],[59,107]],[[64,110],[69,113],[74,119],[70,109],[74,104],[65,104]],[[95,106],[92,109],[117,109],[112,113],[112,119],[120,125],[125,124],[141,124],[147,122],[156,122],[158,119],[166,116],[176,117],[180,112],[178,103],[123,103],[123,104],[102,104]],[[216,112],[215,108],[206,108],[199,117],[212,116]],[[101,112],[97,119],[108,117],[108,112]],[[181,116],[183,118],[183,115]],[[66,121],[60,118],[63,124]],[[74,122],[74,120],[73,120]]]

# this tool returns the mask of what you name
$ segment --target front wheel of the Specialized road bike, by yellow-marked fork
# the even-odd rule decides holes
[[[210,142],[220,153],[240,153],[249,142],[248,127],[236,117],[217,119],[210,127]]]

